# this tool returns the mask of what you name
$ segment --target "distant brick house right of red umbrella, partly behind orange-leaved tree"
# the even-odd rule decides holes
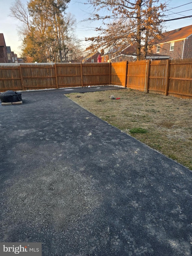
[[[106,54],[101,56],[101,62],[121,62],[121,61],[134,61],[136,59],[136,48],[134,45],[129,45],[125,49],[120,50],[112,49]]]

